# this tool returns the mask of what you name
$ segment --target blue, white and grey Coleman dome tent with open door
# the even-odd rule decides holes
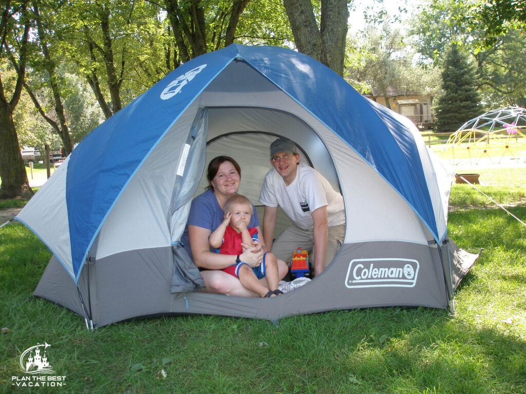
[[[236,159],[239,192],[258,205],[277,137],[294,140],[302,160],[341,191],[347,226],[338,255],[279,297],[174,289],[173,277],[191,268],[181,264],[179,239],[205,165],[219,154]],[[181,65],[89,133],[16,219],[53,252],[34,294],[91,327],[170,314],[277,320],[446,308],[477,258],[447,237],[451,179],[410,120],[327,67],[289,49],[230,45]],[[280,218],[276,231],[287,225]]]

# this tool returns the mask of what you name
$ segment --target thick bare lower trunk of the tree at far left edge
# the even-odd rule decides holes
[[[0,100],[0,179],[0,199],[33,195],[18,146],[13,111],[3,100]]]

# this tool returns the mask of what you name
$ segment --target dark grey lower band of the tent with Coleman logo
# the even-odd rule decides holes
[[[86,264],[78,288],[53,257],[34,295],[73,310],[93,326],[159,315],[278,320],[333,309],[447,308],[454,288],[478,256],[452,241],[441,246],[441,253],[436,244],[344,244],[331,265],[313,281],[279,297],[263,299],[170,293],[173,253],[171,247],[162,247],[119,253]]]

